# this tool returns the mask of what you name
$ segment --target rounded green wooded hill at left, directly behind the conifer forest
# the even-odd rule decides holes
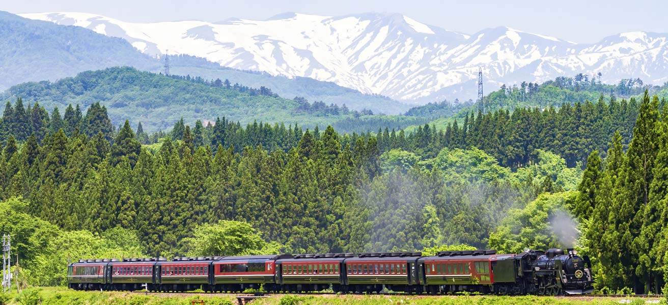
[[[424,123],[422,117],[399,117],[359,113],[325,103],[307,103],[303,99],[284,99],[271,89],[253,89],[243,85],[210,83],[201,78],[165,76],[142,72],[132,67],[114,67],[86,71],[59,81],[40,81],[15,85],[3,99],[22,97],[26,103],[39,101],[51,111],[79,104],[87,109],[92,103],[106,105],[112,124],[129,119],[142,122],[151,133],[170,129],[183,117],[194,125],[200,119],[215,121],[226,117],[242,124],[253,121],[299,123],[303,127],[334,125],[342,131],[377,131],[379,127],[402,128]],[[1,107],[1,106],[0,106]]]

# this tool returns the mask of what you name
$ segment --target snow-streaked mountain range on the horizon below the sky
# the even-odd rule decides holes
[[[237,69],[333,81],[406,101],[474,98],[487,87],[601,72],[603,81],[668,81],[668,34],[632,32],[582,45],[508,27],[473,35],[409,17],[285,13],[264,21],[128,23],[88,13],[26,13],[128,40],[150,55],[188,54]]]

